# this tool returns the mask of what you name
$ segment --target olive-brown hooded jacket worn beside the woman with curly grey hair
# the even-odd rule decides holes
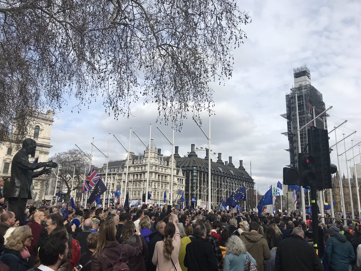
[[[264,261],[271,258],[266,237],[258,232],[243,232],[240,238],[249,254],[256,260],[257,270],[264,271]]]

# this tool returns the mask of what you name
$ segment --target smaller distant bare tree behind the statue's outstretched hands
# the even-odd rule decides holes
[[[89,169],[89,159],[80,150],[71,149],[65,152],[56,153],[52,158],[50,158],[50,160],[53,160],[58,163],[58,165],[61,165],[61,169],[59,170],[58,186],[61,187],[62,184],[65,184],[68,189],[66,200],[69,200],[71,191],[77,190],[83,185],[84,172]],[[55,169],[55,171],[56,170],[57,169]],[[71,190],[71,185],[73,184],[73,173],[74,185],[73,190]]]

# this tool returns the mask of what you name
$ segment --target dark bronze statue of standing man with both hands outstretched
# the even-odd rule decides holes
[[[16,220],[20,225],[25,218],[25,207],[28,199],[31,199],[30,185],[32,178],[43,174],[50,174],[52,169],[58,165],[55,162],[30,163],[29,154],[35,156],[36,142],[34,139],[26,138],[22,143],[22,149],[19,150],[13,158],[11,164],[11,176],[9,187],[6,191],[6,197],[9,201],[9,211],[14,212]],[[35,169],[42,168],[40,171],[33,172]],[[49,168],[46,168],[49,167]]]

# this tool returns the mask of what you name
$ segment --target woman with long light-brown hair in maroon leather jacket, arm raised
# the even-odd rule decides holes
[[[128,255],[142,253],[139,231],[134,233],[137,240],[134,247],[126,242],[119,244],[116,241],[116,232],[114,221],[107,220],[101,224],[98,244],[91,259],[91,271],[108,271],[116,264],[119,266],[123,263],[128,264]]]

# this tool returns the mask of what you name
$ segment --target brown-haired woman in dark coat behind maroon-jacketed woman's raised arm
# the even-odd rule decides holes
[[[143,221],[144,222],[144,221]],[[138,229],[139,231],[139,229]],[[135,224],[133,221],[127,221],[124,224],[122,235],[119,237],[118,242],[122,244],[122,242],[126,242],[126,244],[130,246],[135,246],[137,243],[137,240],[142,244],[142,253],[138,255],[132,255],[129,254],[129,269],[130,270],[139,270],[139,271],[145,271],[145,260],[148,259],[149,252],[148,252],[148,246],[147,242],[145,241],[144,236],[139,235],[138,237],[135,237],[133,233],[135,232]]]

